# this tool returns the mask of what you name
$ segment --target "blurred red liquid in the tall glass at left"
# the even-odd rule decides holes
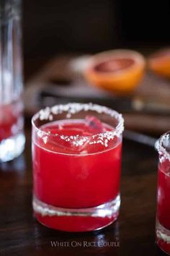
[[[21,104],[0,105],[0,142],[17,135],[22,129]]]

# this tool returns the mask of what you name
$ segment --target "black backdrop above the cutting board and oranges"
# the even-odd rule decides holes
[[[23,0],[24,56],[170,43],[170,1]]]

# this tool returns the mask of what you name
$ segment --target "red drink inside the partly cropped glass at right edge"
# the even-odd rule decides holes
[[[157,220],[170,230],[170,162],[168,160],[159,163],[158,166],[158,195],[157,195]],[[170,254],[170,243],[157,239],[161,249]]]

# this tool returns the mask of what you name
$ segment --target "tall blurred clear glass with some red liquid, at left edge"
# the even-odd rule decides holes
[[[20,5],[0,0],[0,162],[24,150]]]

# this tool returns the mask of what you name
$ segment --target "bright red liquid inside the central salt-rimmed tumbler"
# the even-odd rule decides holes
[[[41,129],[68,136],[88,136],[112,129],[106,124],[97,124],[96,120],[91,124],[87,125],[85,120],[65,120],[46,124]],[[106,148],[89,142],[76,147],[53,136],[45,143],[36,136],[32,146],[34,195],[38,200],[61,208],[93,208],[114,200],[119,194],[121,138],[110,140]],[[42,216],[40,213],[35,216],[45,226],[66,231],[99,229],[114,221],[106,217]]]

